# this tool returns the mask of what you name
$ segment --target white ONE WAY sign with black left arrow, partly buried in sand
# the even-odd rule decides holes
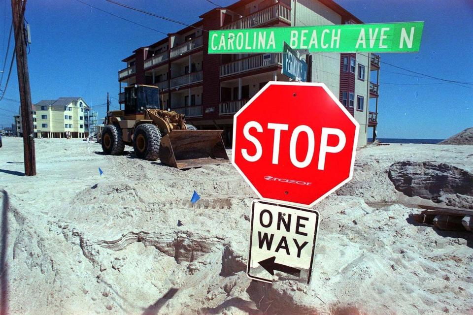
[[[318,223],[315,210],[254,200],[247,276],[269,283],[278,276],[309,284]]]

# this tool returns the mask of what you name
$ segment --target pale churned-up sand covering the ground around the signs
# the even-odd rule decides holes
[[[111,157],[78,139],[35,143],[35,177],[21,176],[21,139],[4,137],[0,149],[9,314],[473,312],[473,234],[418,224],[408,216],[419,210],[405,206],[467,208],[458,200],[468,191],[426,195],[417,185],[408,196],[392,181],[435,171],[453,174],[445,189],[471,186],[472,146],[358,150],[353,181],[314,207],[322,220],[311,283],[270,285],[244,273],[256,195],[231,164],[180,171],[129,147]],[[401,161],[407,168],[392,166]],[[194,189],[202,199],[192,205]]]

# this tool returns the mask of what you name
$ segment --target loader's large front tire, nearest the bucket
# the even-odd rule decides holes
[[[161,144],[161,132],[157,126],[142,124],[135,128],[133,137],[133,148],[138,158],[155,161],[159,158],[159,146]]]

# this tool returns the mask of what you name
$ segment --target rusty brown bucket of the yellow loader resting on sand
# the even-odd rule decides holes
[[[178,169],[228,163],[223,130],[173,130],[161,138],[159,159]]]

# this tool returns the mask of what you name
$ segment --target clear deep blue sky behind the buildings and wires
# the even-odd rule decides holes
[[[104,0],[82,1],[165,33],[182,28]],[[120,1],[185,23],[196,22],[200,14],[215,7],[206,0]],[[222,6],[235,2],[212,1]],[[425,21],[419,53],[381,54],[381,61],[431,76],[473,82],[473,2],[337,0],[337,3],[365,23]],[[1,1],[0,16],[1,66],[11,23],[10,1]],[[92,106],[103,104],[107,92],[113,97],[118,95],[117,72],[125,67],[121,60],[137,47],[165,36],[76,0],[29,0],[26,19],[31,25],[33,41],[28,55],[33,102],[82,96]],[[381,65],[378,137],[441,139],[473,126],[473,85],[463,87],[415,76]],[[19,100],[16,64],[5,97]],[[118,107],[118,101],[111,100],[112,106]],[[105,106],[96,108],[103,117]],[[12,112],[17,111],[18,103],[2,100],[0,126],[9,126]]]

